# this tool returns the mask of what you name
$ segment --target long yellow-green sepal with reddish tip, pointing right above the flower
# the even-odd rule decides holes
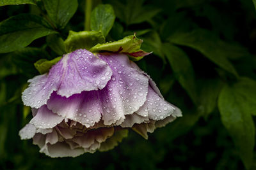
[[[126,36],[123,39],[114,42],[102,43],[93,46],[91,52],[116,52],[116,53],[125,53],[129,55],[131,60],[140,60],[145,55],[150,53],[144,52],[140,49],[142,39],[136,38],[135,34],[133,36]]]

